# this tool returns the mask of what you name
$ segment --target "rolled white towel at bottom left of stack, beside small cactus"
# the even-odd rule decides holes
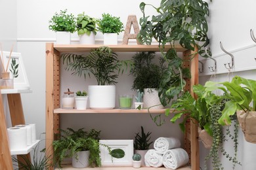
[[[161,167],[163,165],[163,155],[154,149],[148,150],[145,154],[145,165],[147,167]]]

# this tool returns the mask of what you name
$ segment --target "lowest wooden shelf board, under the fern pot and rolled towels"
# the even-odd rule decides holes
[[[74,168],[72,167],[72,165],[63,165],[62,166],[63,169],[65,170],[71,170],[71,169],[77,169],[77,168]],[[55,168],[55,169],[58,169],[58,168]],[[79,168],[79,169],[93,169],[93,170],[134,170],[134,169],[137,169],[137,168],[133,168],[133,167],[93,167],[93,168]],[[146,166],[142,166],[140,167],[140,169],[143,169],[143,170],[154,170],[154,169],[158,169],[158,170],[163,170],[163,169],[166,169],[165,167],[146,167]],[[185,166],[185,167],[179,167],[177,170],[191,170],[190,167],[188,166]]]

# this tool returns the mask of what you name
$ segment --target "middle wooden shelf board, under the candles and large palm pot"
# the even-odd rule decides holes
[[[150,113],[163,113],[165,109],[150,109]],[[149,113],[148,109],[135,110],[135,109],[109,109],[109,110],[77,110],[77,109],[54,109],[54,113]]]

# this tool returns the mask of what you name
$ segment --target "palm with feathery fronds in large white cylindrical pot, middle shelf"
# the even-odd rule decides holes
[[[73,71],[72,75],[93,74],[97,86],[89,86],[91,109],[114,109],[116,105],[116,78],[123,65],[129,61],[119,61],[117,54],[107,46],[92,49],[89,56],[79,54],[62,54],[66,69]],[[121,71],[122,72],[122,71]]]

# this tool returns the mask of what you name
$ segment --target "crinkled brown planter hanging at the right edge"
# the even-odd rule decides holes
[[[256,143],[256,111],[244,112],[244,110],[236,111],[238,122],[244,138],[248,143]]]

